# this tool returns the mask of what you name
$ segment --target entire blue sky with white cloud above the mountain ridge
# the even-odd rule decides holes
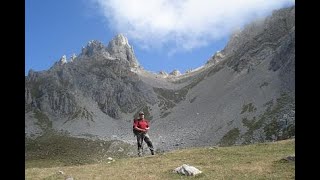
[[[90,40],[124,34],[144,69],[185,72],[222,50],[230,33],[293,0],[26,0],[25,74],[47,70]],[[174,2],[174,3],[173,3]]]

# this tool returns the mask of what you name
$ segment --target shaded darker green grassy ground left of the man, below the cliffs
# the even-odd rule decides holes
[[[92,164],[109,156],[128,157],[133,149],[121,141],[89,140],[47,131],[35,140],[25,139],[25,162],[30,168]]]

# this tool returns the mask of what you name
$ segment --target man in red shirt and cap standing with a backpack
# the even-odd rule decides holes
[[[142,147],[143,141],[147,143],[151,151],[151,154],[154,155],[153,145],[149,135],[147,134],[149,130],[149,122],[147,119],[144,119],[144,113],[142,111],[139,112],[139,118],[133,121],[133,129],[134,129],[135,135],[137,136],[138,156],[141,156],[141,153],[143,150],[143,147]]]

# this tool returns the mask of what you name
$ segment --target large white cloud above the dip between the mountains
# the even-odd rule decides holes
[[[292,0],[93,0],[117,32],[144,48],[191,50]]]

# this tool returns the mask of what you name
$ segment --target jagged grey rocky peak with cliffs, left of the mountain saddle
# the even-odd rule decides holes
[[[63,56],[47,72],[31,71],[26,77],[27,105],[35,103],[35,108],[54,116],[72,116],[82,107],[77,97],[84,95],[91,97],[106,115],[120,119],[121,113],[155,103],[152,88],[130,70],[137,63],[122,35],[115,37],[108,48],[99,41],[90,41],[77,58],[67,63]]]

